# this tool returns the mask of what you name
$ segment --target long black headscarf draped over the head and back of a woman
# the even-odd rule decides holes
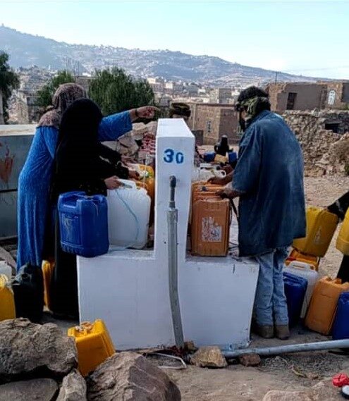
[[[102,117],[102,111],[90,99],[74,101],[63,113],[54,163],[54,202],[63,192],[106,193],[106,177],[102,177],[99,163],[98,126]]]

